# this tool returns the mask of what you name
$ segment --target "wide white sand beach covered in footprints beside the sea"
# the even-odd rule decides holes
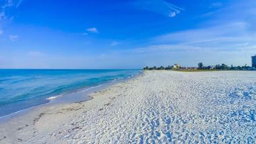
[[[146,71],[0,124],[0,143],[253,143],[255,71]]]

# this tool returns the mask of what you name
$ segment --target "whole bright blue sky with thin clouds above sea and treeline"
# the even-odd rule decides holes
[[[0,0],[0,68],[251,65],[255,0]]]

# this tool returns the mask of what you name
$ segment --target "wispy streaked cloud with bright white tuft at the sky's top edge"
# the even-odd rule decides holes
[[[139,8],[154,11],[168,17],[174,17],[185,10],[164,0],[137,0],[134,4]]]

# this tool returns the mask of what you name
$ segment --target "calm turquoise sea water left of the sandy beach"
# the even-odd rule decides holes
[[[49,98],[138,75],[139,70],[0,69],[0,117]]]

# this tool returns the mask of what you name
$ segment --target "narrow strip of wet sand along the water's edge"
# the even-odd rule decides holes
[[[19,110],[17,112],[13,112],[13,113],[10,113],[10,114],[4,115],[4,116],[0,116],[0,124],[3,122],[7,122],[8,120],[10,120],[12,118],[16,118],[18,116],[22,116],[23,114],[27,114],[28,112],[31,112],[32,110],[34,110],[36,108],[40,108],[42,106],[52,106],[55,104],[71,104],[71,103],[75,103],[75,102],[86,102],[88,100],[92,100],[93,98],[90,97],[90,94],[93,94],[94,92],[100,91],[102,89],[106,89],[107,87],[111,87],[111,85],[115,85],[116,83],[122,83],[123,81],[129,81],[130,79],[139,77],[140,75],[143,75],[143,71],[139,72],[137,75],[132,75],[131,77],[126,77],[123,79],[114,79],[112,81],[100,83],[99,85],[75,89],[71,92],[66,92],[64,94],[59,94],[57,96],[52,96],[52,97],[46,98],[46,100],[49,100],[49,102],[46,102],[44,104],[39,104],[37,106],[32,106],[32,107],[26,108],[24,110]],[[75,96],[75,95],[78,95],[78,96]],[[77,98],[74,98],[74,97],[77,97]]]

